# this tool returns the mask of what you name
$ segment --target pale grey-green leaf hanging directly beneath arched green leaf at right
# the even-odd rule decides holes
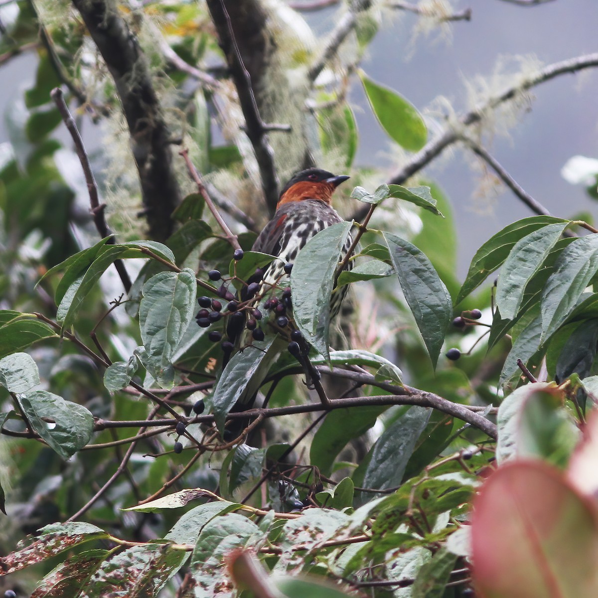
[[[567,224],[549,224],[515,243],[502,266],[496,286],[496,305],[502,318],[517,316],[527,283],[544,264]]]

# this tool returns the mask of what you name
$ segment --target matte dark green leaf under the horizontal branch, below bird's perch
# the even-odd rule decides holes
[[[386,409],[388,407],[364,405],[330,411],[313,437],[309,462],[323,475],[331,475],[338,453],[353,438],[359,438],[372,428]]]

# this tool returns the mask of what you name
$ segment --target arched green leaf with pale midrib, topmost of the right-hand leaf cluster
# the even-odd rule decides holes
[[[509,252],[511,252],[511,249],[519,239],[538,230],[538,228],[542,228],[547,224],[556,224],[557,222],[568,221],[562,218],[554,218],[554,216],[531,216],[530,218],[523,218],[513,224],[509,224],[508,227],[503,228],[487,240],[475,252],[474,258],[471,260],[469,271],[459,291],[456,303],[459,304],[463,301],[471,291],[478,288],[493,271],[504,263]]]

